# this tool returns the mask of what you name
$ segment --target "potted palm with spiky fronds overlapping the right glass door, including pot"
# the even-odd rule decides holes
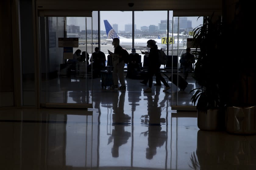
[[[197,126],[201,130],[221,130],[224,127],[223,104],[220,98],[220,73],[222,51],[222,22],[214,13],[204,18],[202,25],[193,30],[193,51],[197,60],[193,78],[198,88],[190,91],[194,93],[191,101],[197,104]]]

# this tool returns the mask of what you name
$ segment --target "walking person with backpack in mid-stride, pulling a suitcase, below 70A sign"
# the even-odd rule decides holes
[[[158,47],[156,45],[156,42],[153,39],[150,39],[147,41],[147,47],[150,48],[149,52],[149,67],[148,67],[148,88],[146,90],[143,90],[145,93],[151,93],[151,87],[153,84],[153,76],[155,74],[156,77],[158,77],[162,83],[165,85],[165,89],[163,92],[167,92],[171,87],[169,84],[165,81],[165,79],[161,76],[160,73],[160,66],[161,63],[159,61],[159,54],[158,54]]]

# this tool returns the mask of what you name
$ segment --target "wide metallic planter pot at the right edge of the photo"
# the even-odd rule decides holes
[[[233,134],[256,134],[256,106],[227,107],[226,131]]]

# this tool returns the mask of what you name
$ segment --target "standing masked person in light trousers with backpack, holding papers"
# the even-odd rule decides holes
[[[114,38],[112,45],[114,46],[114,53],[110,53],[112,56],[113,61],[113,86],[111,87],[112,90],[119,89],[119,90],[126,90],[125,80],[124,80],[124,66],[125,62],[128,63],[129,53],[123,49],[120,45],[120,40],[118,38]],[[118,78],[120,81],[121,86],[118,87]]]

